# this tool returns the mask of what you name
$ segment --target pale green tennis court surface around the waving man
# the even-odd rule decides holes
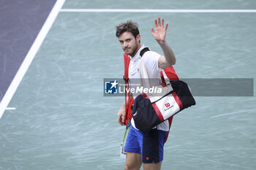
[[[249,9],[255,1],[66,0],[0,119],[0,169],[123,169],[116,113],[124,98],[105,97],[102,87],[124,73],[115,26],[134,20],[141,42],[162,54],[150,26],[165,18],[179,77],[255,80],[256,13]],[[256,169],[255,94],[195,99],[173,118],[162,169]]]

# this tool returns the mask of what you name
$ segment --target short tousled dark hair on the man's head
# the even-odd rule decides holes
[[[120,23],[116,26],[116,37],[121,36],[124,32],[129,31],[133,36],[140,34],[138,23],[133,22],[132,20],[127,20],[127,23]]]

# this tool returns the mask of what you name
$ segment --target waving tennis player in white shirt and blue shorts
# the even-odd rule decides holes
[[[170,46],[165,40],[167,26],[164,19],[158,18],[155,20],[155,28],[151,27],[151,33],[157,43],[162,48],[164,55],[159,55],[156,52],[148,51],[143,55],[143,61],[146,65],[146,72],[150,79],[158,79],[161,69],[165,69],[176,63],[176,57]],[[116,36],[121,44],[124,53],[129,55],[131,61],[129,62],[129,80],[131,84],[143,73],[139,72],[140,51],[145,45],[140,44],[140,32],[138,24],[128,20],[127,23],[121,23],[116,26]],[[156,82],[151,82],[150,86],[155,86]],[[157,82],[159,83],[159,82]],[[159,85],[159,84],[158,84]],[[137,93],[132,93],[133,98],[138,96]],[[118,111],[117,119],[120,125],[124,125],[125,117],[125,102]],[[131,127],[127,136],[127,142],[124,150],[126,150],[126,163],[124,169],[140,169],[143,165],[144,170],[161,169],[163,160],[163,147],[167,132],[169,131],[169,122],[165,120],[163,123],[157,125],[148,133],[143,133],[135,127],[135,123],[131,120]]]

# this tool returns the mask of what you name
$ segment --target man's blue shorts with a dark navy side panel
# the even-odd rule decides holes
[[[141,154],[143,163],[159,163],[164,158],[166,135],[167,131],[160,131],[157,128],[143,133],[131,125],[124,150]]]

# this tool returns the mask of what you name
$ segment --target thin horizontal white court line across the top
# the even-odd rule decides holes
[[[255,13],[256,9],[61,9],[60,12]]]

